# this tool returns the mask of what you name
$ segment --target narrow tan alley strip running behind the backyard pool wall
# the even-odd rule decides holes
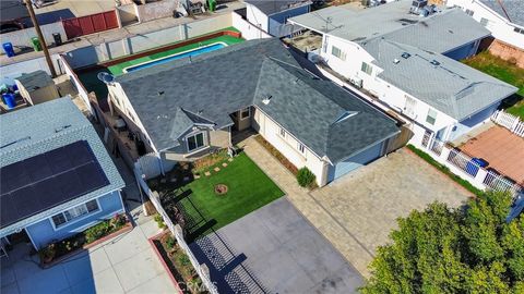
[[[103,33],[98,33],[98,34],[82,36],[82,37],[80,37],[80,40],[78,40],[78,41],[71,41],[71,42],[67,42],[67,44],[64,44],[60,47],[49,48],[49,53],[51,56],[52,54],[60,54],[60,53],[72,51],[72,50],[78,49],[78,48],[83,48],[83,47],[87,47],[87,46],[97,46],[97,45],[100,45],[103,42],[120,40],[120,39],[123,39],[123,38],[127,38],[127,37],[132,37],[132,36],[138,36],[138,35],[145,35],[145,34],[148,34],[148,33],[152,33],[152,32],[174,27],[174,26],[181,25],[181,24],[188,24],[188,23],[203,21],[203,20],[206,20],[206,19],[213,19],[213,17],[216,17],[218,15],[227,14],[227,13],[230,13],[231,11],[235,11],[237,9],[241,9],[241,8],[246,7],[246,4],[243,2],[240,2],[240,1],[228,2],[225,5],[226,5],[226,8],[217,10],[213,14],[210,14],[210,15],[202,14],[202,15],[195,16],[194,19],[192,19],[192,17],[180,17],[180,19],[165,17],[165,19],[158,19],[158,20],[155,20],[155,21],[145,22],[145,23],[141,23],[141,24],[133,24],[133,25],[121,27],[121,28],[110,29],[110,30],[106,30],[106,32],[103,32]],[[8,58],[5,54],[2,54],[2,56],[0,56],[0,64],[2,64],[2,66],[5,66],[5,65],[32,60],[32,59],[35,59],[35,58],[41,58],[41,57],[44,57],[43,52],[34,52],[34,51],[22,53],[22,54],[15,56],[13,58]]]

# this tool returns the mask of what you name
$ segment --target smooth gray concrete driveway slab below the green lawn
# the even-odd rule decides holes
[[[221,293],[355,293],[362,278],[286,199],[190,245]]]

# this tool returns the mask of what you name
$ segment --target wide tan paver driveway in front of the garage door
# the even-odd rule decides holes
[[[456,207],[473,195],[404,148],[310,196],[324,211],[324,215],[309,213],[310,220],[314,223],[317,216],[329,215],[335,224],[320,230],[367,275],[367,265],[377,247],[388,243],[398,217],[407,216],[413,209],[424,209],[433,201]]]

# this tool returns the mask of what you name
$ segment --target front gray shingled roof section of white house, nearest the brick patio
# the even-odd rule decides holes
[[[377,38],[362,47],[383,69],[379,77],[456,120],[517,91],[461,62],[413,46]]]

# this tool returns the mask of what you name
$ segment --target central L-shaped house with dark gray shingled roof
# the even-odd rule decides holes
[[[118,76],[109,99],[164,171],[253,128],[320,186],[389,150],[395,121],[300,68],[278,39],[250,40]]]

